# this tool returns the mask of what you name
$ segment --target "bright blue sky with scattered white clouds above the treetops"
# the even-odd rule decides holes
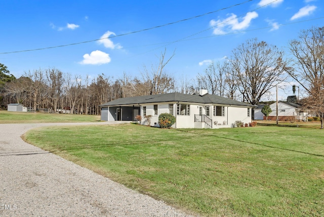
[[[166,72],[177,81],[190,80],[248,39],[288,51],[300,30],[324,26],[322,0],[2,0],[1,5],[0,62],[17,78],[49,67],[91,78],[141,77],[143,66],[156,65],[166,48],[167,57],[175,51]],[[187,18],[192,19],[181,21]],[[140,31],[159,25],[164,26]],[[112,38],[93,41],[107,37]],[[74,43],[81,44],[57,47]],[[42,49],[48,47],[57,48]],[[17,52],[24,50],[34,51]]]

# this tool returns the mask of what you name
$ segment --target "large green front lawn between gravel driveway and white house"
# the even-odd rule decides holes
[[[24,138],[132,189],[207,216],[324,216],[324,131],[257,126],[48,127]]]

